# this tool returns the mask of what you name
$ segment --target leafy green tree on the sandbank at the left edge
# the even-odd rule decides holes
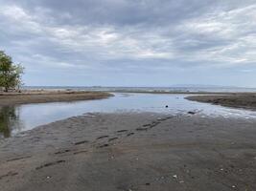
[[[11,56],[0,51],[0,87],[4,88],[5,92],[21,86],[23,71],[24,68],[20,64],[13,64]]]

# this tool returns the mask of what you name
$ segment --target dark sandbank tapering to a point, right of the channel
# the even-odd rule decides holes
[[[187,96],[189,100],[213,103],[217,105],[256,110],[256,93],[222,96]]]

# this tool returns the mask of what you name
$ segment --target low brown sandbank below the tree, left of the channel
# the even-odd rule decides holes
[[[75,91],[24,91],[22,93],[1,93],[0,107],[26,103],[46,103],[75,100],[101,99],[112,96],[105,92]]]

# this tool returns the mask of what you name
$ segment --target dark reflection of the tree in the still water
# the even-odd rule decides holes
[[[20,131],[22,128],[18,108],[13,106],[0,108],[0,137],[10,138],[12,131]]]

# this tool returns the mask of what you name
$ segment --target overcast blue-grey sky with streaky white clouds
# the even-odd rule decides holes
[[[0,0],[0,50],[31,86],[256,87],[256,1]]]

